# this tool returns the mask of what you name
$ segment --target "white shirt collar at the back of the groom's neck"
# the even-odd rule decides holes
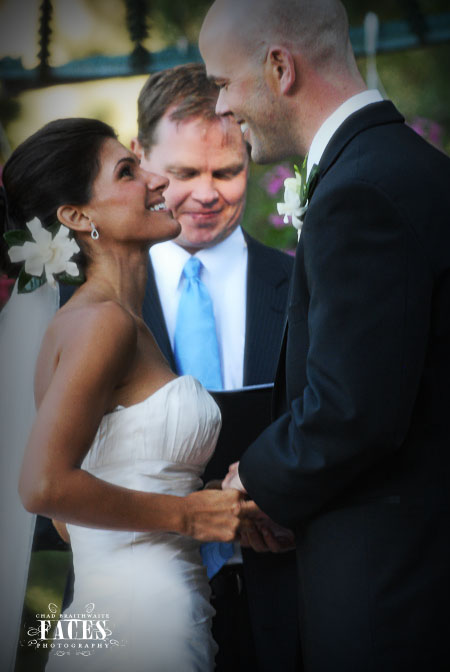
[[[344,121],[349,117],[353,112],[357,112],[366,105],[371,103],[379,103],[383,100],[381,93],[377,89],[369,89],[367,91],[362,91],[357,93],[355,96],[352,96],[346,100],[342,105],[340,105],[334,112],[331,114],[328,119],[325,119],[322,126],[319,128],[315,134],[311,147],[308,152],[308,163],[307,163],[307,178],[311,172],[311,168],[314,164],[319,165],[319,161],[322,158],[326,146],[330,142],[332,136],[335,134],[339,126],[344,123]]]

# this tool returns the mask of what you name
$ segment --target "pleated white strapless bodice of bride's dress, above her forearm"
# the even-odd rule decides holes
[[[180,376],[143,401],[106,414],[82,468],[123,487],[184,495],[201,487],[220,424],[205,388]]]

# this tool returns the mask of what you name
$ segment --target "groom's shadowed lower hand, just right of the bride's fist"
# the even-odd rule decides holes
[[[255,502],[243,502],[241,516],[239,534],[242,546],[253,548],[258,553],[284,553],[295,549],[294,533],[269,518]]]

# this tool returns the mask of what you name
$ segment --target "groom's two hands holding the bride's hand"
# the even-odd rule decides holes
[[[221,488],[224,491],[238,491],[235,495],[239,502],[239,522],[236,529],[236,541],[241,546],[264,553],[283,553],[295,548],[295,538],[291,530],[275,523],[252,500],[246,499],[247,491],[242,485],[238,473],[239,462],[230,465],[223,481],[213,481],[206,487]],[[231,492],[229,493],[231,495]]]

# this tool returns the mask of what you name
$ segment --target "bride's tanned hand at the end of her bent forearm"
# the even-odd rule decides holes
[[[237,490],[200,490],[187,495],[182,534],[198,541],[234,541],[243,497]]]

